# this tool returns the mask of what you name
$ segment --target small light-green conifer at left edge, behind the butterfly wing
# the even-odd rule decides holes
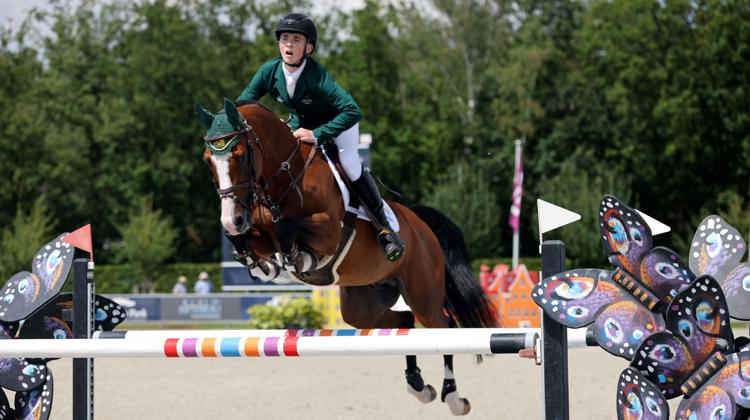
[[[0,243],[0,278],[31,270],[31,261],[39,249],[55,238],[54,218],[43,197],[30,209],[18,208],[10,225],[3,228]]]

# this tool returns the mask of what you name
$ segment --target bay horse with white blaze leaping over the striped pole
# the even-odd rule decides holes
[[[196,114],[208,130],[203,159],[220,197],[221,223],[253,276],[269,280],[285,269],[313,285],[337,284],[343,319],[355,328],[414,328],[415,316],[427,328],[497,325],[468,265],[463,234],[446,216],[387,201],[406,242],[395,262],[386,259],[366,220],[356,219],[343,244],[342,192],[318,146],[295,139],[256,102],[236,106],[225,99],[223,112],[196,105]],[[332,261],[334,255],[339,259]],[[332,274],[328,281],[305,274],[322,265]],[[399,295],[412,312],[391,309]],[[441,400],[453,414],[467,414],[471,406],[456,389],[453,356],[443,357]],[[406,356],[405,373],[409,393],[424,403],[436,398],[415,355]]]

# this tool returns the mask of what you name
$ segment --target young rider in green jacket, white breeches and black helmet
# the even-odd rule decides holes
[[[280,57],[260,67],[237,102],[257,101],[268,94],[289,109],[289,125],[298,140],[316,145],[333,141],[338,146],[344,172],[380,229],[378,240],[386,257],[395,261],[403,254],[405,245],[388,223],[375,180],[359,160],[357,145],[362,114],[351,95],[310,57],[317,35],[308,16],[300,13],[284,16],[276,26]]]

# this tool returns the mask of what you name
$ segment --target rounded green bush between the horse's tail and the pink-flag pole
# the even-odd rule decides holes
[[[461,162],[441,179],[425,203],[441,210],[461,228],[472,258],[496,256],[500,210],[482,171]]]

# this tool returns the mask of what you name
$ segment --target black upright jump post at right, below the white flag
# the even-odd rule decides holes
[[[542,278],[565,270],[565,244],[562,241],[542,243]],[[544,418],[568,420],[568,331],[565,326],[542,311],[542,391]]]

